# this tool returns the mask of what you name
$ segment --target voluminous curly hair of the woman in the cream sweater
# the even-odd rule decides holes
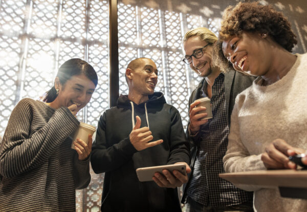
[[[238,3],[235,7],[226,8],[218,41],[214,45],[214,65],[222,71],[229,67],[227,59],[222,52],[223,40],[230,36],[242,35],[243,32],[258,32],[270,35],[277,44],[292,52],[297,44],[296,35],[291,29],[291,23],[281,12],[276,11],[271,5],[260,5],[257,2]]]

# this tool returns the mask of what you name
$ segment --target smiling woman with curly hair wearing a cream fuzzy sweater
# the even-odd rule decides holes
[[[270,5],[239,3],[225,11],[215,63],[257,76],[236,97],[223,159],[226,172],[295,169],[288,157],[307,150],[307,93],[302,89],[307,54],[291,53],[295,37],[289,20]],[[238,187],[254,190],[255,211],[307,208],[307,200],[282,198],[277,188]]]

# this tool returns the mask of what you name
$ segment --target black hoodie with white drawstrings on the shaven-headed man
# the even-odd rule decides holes
[[[178,110],[156,92],[141,104],[121,95],[117,106],[100,117],[91,163],[95,173],[105,173],[102,211],[181,211],[177,188],[161,188],[155,182],[140,182],[140,167],[186,162],[189,143]],[[129,140],[135,117],[148,126],[153,140],[163,143],[137,151]]]

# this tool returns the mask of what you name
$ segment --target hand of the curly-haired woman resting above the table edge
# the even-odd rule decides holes
[[[268,169],[296,169],[296,164],[289,160],[289,156],[304,153],[305,151],[289,145],[282,139],[276,139],[266,147],[261,160]],[[304,159],[302,159],[304,162]],[[307,161],[306,161],[307,162]]]

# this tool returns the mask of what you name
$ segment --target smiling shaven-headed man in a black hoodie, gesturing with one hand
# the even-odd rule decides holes
[[[158,69],[151,59],[137,58],[125,72],[128,95],[100,117],[91,163],[105,173],[102,211],[181,211],[177,187],[188,181],[164,170],[140,182],[136,169],[190,161],[189,143],[178,110],[154,92]]]

